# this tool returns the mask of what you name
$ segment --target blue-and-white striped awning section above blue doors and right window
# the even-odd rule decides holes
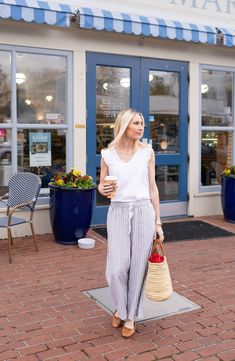
[[[118,33],[153,36],[216,45],[216,27],[166,20],[152,16],[119,13],[101,9],[79,7],[80,27],[115,31]],[[220,29],[225,46],[235,46],[235,31]]]

